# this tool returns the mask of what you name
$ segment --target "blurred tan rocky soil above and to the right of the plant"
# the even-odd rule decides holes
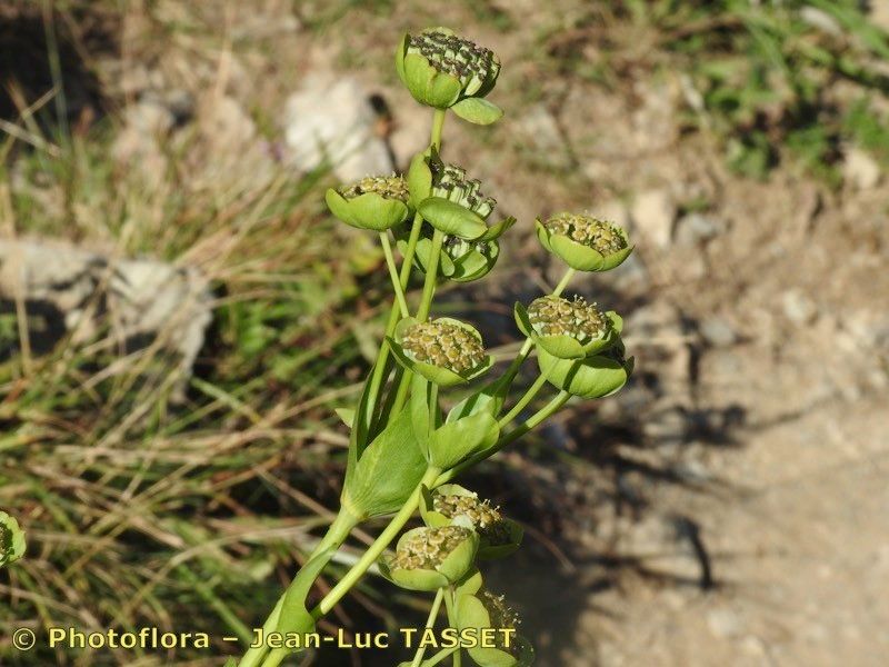
[[[214,14],[160,2],[127,18],[123,57],[101,60],[108,96],[123,104],[116,159],[150,180],[177,137],[197,132],[192,178],[259,189],[281,163],[318,162],[310,137],[344,141],[343,178],[403,166],[423,145],[428,115],[396,86],[389,56],[402,28],[428,22],[423,11],[309,26],[311,9],[244,4]],[[444,13],[436,22],[466,20]],[[158,22],[216,31],[159,47]],[[637,356],[637,381],[596,420],[575,411],[549,434],[596,466],[515,462],[523,482],[562,485],[575,512],[520,560],[528,578],[499,574],[539,637],[539,664],[885,664],[880,167],[847,147],[839,189],[792,167],[739,179],[708,138],[680,131],[680,77],[636,72],[605,94],[540,71],[523,47],[529,29],[472,33],[501,53],[495,99],[508,115],[495,130],[452,121],[444,150],[475,163],[526,230],[498,268],[501,285],[553,279],[527,230],[556,209],[616,219],[638,248],[613,276],[576,285],[620,307]]]

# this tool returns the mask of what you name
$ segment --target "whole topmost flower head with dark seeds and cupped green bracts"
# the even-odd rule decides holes
[[[480,99],[497,82],[497,56],[448,28],[429,28],[416,36],[406,33],[396,51],[396,69],[421,104],[453,108],[458,116],[480,125],[502,116],[495,104]]]

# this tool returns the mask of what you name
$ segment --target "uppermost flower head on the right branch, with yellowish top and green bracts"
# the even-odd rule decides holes
[[[632,252],[627,232],[590,216],[559,213],[535,222],[537,238],[550,252],[579,271],[608,271]]]

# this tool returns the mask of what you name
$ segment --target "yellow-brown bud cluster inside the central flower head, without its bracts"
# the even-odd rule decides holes
[[[448,322],[417,322],[404,331],[403,350],[414,360],[462,374],[485,362],[485,348],[472,334]]]

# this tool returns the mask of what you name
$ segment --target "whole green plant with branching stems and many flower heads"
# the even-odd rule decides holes
[[[488,49],[442,28],[404,36],[396,61],[410,93],[433,109],[429,147],[414,157],[403,179],[369,177],[327,193],[331,211],[343,222],[379,236],[393,303],[357,405],[338,410],[351,428],[339,511],[269,615],[262,637],[287,641],[313,631],[379,564],[394,585],[434,591],[427,630],[438,623],[443,604],[450,628],[493,637],[481,646],[458,643],[429,658],[420,645],[412,667],[436,665],[449,656],[459,665],[463,649],[481,667],[528,665],[533,653],[516,636],[515,613],[483,588],[477,568],[478,558],[513,551],[522,531],[451,480],[540,425],[572,396],[608,396],[626,384],[632,358],[626,357],[620,339],[622,320],[561,293],[576,271],[613,269],[632,246],[623,230],[589,216],[559,213],[538,220],[541,243],[569,268],[550,295],[528,308],[517,306],[526,340],[506,370],[443,411],[444,392],[491,374],[493,359],[472,326],[430,318],[439,283],[483,277],[499,256],[499,237],[515,220],[490,222],[496,202],[482,193],[481,183],[442,160],[442,129],[449,110],[479,125],[500,118],[499,108],[485,99],[500,66]],[[400,267],[392,239],[401,252]],[[413,271],[424,277],[419,303],[411,309],[407,287]],[[516,376],[532,351],[540,372],[527,391],[512,398]],[[526,416],[548,385],[555,396]],[[401,535],[418,510],[427,526]],[[386,515],[392,515],[386,528],[310,608],[307,599],[314,580],[351,531]],[[387,556],[396,539],[394,555]],[[239,665],[273,667],[290,650],[260,641]]]

